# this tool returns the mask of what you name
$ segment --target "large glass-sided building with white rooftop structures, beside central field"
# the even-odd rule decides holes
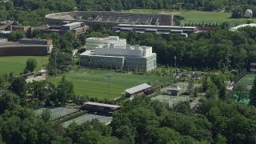
[[[98,46],[80,54],[82,66],[102,67],[113,70],[154,70],[157,54],[151,46],[115,46],[114,43]]]

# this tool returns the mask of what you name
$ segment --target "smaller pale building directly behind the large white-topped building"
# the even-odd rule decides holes
[[[110,36],[109,38],[86,38],[86,50],[95,50],[97,46],[114,43],[115,46],[126,46],[126,39],[118,36]]]

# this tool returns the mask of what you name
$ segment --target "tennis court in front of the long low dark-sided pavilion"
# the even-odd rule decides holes
[[[112,117],[96,115],[96,114],[84,114],[84,115],[82,115],[82,116],[80,116],[78,118],[74,118],[74,119],[71,119],[70,121],[63,122],[62,126],[67,127],[72,122],[76,122],[77,124],[80,125],[83,122],[91,121],[94,118],[98,119],[99,122],[103,122],[103,123],[106,123],[106,124],[109,124],[112,121]]]

